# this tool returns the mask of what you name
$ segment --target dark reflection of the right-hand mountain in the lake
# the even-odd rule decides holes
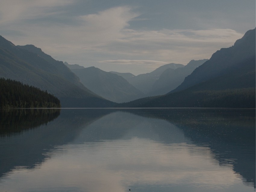
[[[133,113],[166,119],[189,140],[209,145],[220,165],[232,164],[233,170],[255,188],[255,110],[163,109]]]

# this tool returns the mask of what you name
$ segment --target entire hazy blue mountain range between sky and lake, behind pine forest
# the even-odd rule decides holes
[[[209,60],[135,76],[63,63],[0,36],[0,77],[47,90],[62,107],[255,107],[255,52],[252,29]]]

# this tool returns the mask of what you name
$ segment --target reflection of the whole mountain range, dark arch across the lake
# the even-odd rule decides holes
[[[139,137],[165,144],[205,143],[220,165],[232,164],[235,172],[255,185],[254,110],[65,109],[52,122],[43,119],[44,125],[38,128],[1,138],[0,146],[4,148],[0,154],[0,175],[16,166],[35,167],[56,145]],[[21,125],[25,129],[33,127]]]

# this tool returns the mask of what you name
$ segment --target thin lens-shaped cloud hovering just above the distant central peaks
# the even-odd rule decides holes
[[[105,60],[105,61],[99,61],[99,63],[111,63],[111,64],[125,64],[125,65],[155,65],[155,64],[168,64],[168,62],[163,61],[153,61],[153,60]]]

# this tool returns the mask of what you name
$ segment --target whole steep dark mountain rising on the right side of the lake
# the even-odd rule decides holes
[[[255,108],[255,52],[253,29],[232,47],[214,53],[174,91],[138,99],[122,107]]]

